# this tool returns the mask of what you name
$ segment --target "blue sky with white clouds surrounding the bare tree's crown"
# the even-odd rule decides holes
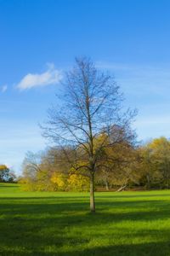
[[[47,147],[47,110],[75,56],[111,72],[139,140],[170,137],[170,1],[0,0],[0,163]]]

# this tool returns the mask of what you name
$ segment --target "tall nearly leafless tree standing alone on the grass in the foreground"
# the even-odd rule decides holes
[[[76,59],[75,67],[65,74],[63,86],[58,106],[48,110],[43,136],[62,148],[71,170],[89,178],[90,210],[95,212],[94,177],[104,162],[102,150],[121,143],[122,139],[134,139],[130,124],[135,111],[122,111],[119,86],[86,57]],[[104,136],[95,145],[100,134]]]

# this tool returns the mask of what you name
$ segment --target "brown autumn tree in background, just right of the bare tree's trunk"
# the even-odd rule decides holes
[[[130,183],[139,184],[139,160],[136,148],[122,141],[105,148],[104,165],[100,167],[98,178],[105,183],[106,190],[119,186],[119,191]]]

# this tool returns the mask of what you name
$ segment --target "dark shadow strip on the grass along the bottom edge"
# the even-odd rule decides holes
[[[169,242],[149,242],[141,244],[130,244],[108,247],[94,247],[82,250],[71,250],[71,252],[41,252],[35,249],[33,252],[9,252],[0,250],[1,256],[168,256]]]

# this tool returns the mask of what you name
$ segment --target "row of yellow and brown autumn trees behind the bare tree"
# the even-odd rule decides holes
[[[71,148],[65,150],[69,151],[68,154],[74,154]],[[102,154],[103,165],[96,172],[94,189],[170,188],[170,141],[166,137],[156,138],[138,147],[123,142],[116,147],[105,148]],[[83,164],[81,160],[78,163],[79,166]],[[20,183],[25,184],[26,190],[89,191],[86,170],[82,168],[82,172],[79,172],[71,168],[65,161],[63,148],[49,148],[37,154],[28,152]]]

